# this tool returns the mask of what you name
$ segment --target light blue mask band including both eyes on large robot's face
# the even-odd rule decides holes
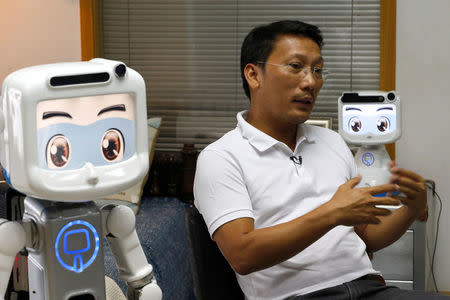
[[[89,125],[56,123],[39,129],[37,138],[38,164],[43,169],[74,170],[87,162],[108,165],[127,160],[136,152],[135,122],[125,118],[101,119]],[[119,154],[115,151],[123,153],[123,158],[114,160]]]

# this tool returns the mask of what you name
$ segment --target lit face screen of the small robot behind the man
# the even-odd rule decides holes
[[[344,105],[342,128],[348,134],[384,135],[396,130],[397,113],[393,104]]]

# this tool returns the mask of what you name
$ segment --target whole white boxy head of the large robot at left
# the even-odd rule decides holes
[[[123,63],[94,59],[25,68],[5,79],[2,92],[0,160],[8,183],[20,192],[93,200],[147,173],[145,83]]]

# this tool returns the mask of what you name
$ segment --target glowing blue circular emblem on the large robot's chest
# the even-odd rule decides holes
[[[71,227],[76,226],[76,229],[69,230]],[[80,228],[81,227],[81,228]],[[68,249],[68,240],[67,237],[73,236],[74,234],[85,234],[85,238],[87,239],[87,247],[79,250],[70,251]],[[95,246],[94,249],[91,247],[90,242],[90,235],[93,235]],[[60,242],[63,238],[63,249],[60,249]],[[61,250],[63,251],[61,253]],[[56,237],[55,241],[55,256],[60,263],[60,265],[69,270],[73,271],[75,273],[81,273],[83,272],[87,267],[89,267],[94,260],[97,258],[98,251],[100,250],[100,238],[98,236],[98,232],[95,229],[94,226],[92,226],[91,223],[88,223],[83,220],[75,220],[72,222],[67,223],[66,225],[61,228],[61,230],[58,232],[58,235]],[[89,259],[87,259],[86,263],[83,263],[83,256],[81,253],[85,253],[88,251],[92,251],[91,256]],[[67,262],[67,260],[70,257],[67,257],[68,255],[75,254],[73,258],[71,259],[70,263]]]

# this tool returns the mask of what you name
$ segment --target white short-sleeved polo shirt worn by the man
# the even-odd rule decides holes
[[[332,130],[300,124],[295,151],[237,115],[237,127],[199,155],[195,206],[212,235],[249,217],[255,229],[284,223],[329,201],[356,176],[353,156]],[[295,163],[291,157],[301,157]],[[285,299],[378,273],[353,227],[338,226],[294,257],[249,275],[237,275],[247,299]]]

